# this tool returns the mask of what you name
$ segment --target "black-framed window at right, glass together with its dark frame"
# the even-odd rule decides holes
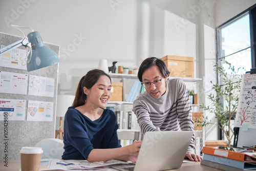
[[[254,40],[256,40],[256,6],[252,6],[227,23],[217,28],[217,62],[219,66],[226,68],[225,61],[231,63],[234,68],[241,68],[241,73],[255,68]],[[255,28],[253,30],[253,28]],[[222,84],[218,76],[219,84]],[[223,133],[219,130],[219,139],[223,139]]]

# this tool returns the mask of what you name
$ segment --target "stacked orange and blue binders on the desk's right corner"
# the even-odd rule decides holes
[[[201,164],[227,171],[256,170],[255,153],[240,153],[237,148],[203,147]]]

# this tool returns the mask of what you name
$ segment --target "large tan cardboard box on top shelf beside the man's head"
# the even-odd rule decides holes
[[[167,55],[162,60],[170,71],[170,77],[194,78],[194,57]]]

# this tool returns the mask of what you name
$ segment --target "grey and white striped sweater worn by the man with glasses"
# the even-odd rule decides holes
[[[146,91],[133,102],[142,134],[147,131],[194,131],[192,108],[185,83],[181,79],[168,79],[166,92],[155,99]],[[195,135],[187,152],[195,153]]]

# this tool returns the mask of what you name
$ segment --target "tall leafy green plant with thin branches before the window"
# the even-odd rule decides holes
[[[240,68],[234,69],[231,63],[227,61],[225,63],[227,70],[225,70],[224,67],[218,66],[218,64],[214,66],[214,71],[221,76],[222,85],[218,83],[214,84],[210,81],[211,88],[214,90],[214,93],[207,95],[210,104],[205,105],[203,103],[200,105],[200,108],[215,115],[215,118],[217,118],[219,122],[218,126],[226,136],[228,146],[230,147],[233,137],[233,133],[230,131],[230,120],[235,116],[235,112],[238,108],[242,74]],[[215,123],[208,121],[207,117],[203,117],[203,120],[197,119],[195,124],[197,126],[206,126]]]

